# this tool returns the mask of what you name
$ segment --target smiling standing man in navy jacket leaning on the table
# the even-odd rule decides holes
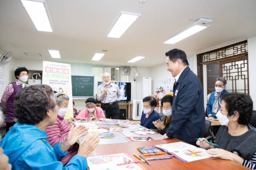
[[[184,51],[177,48],[166,54],[167,71],[175,78],[172,120],[168,132],[158,139],[177,138],[197,146],[204,137],[204,96],[201,82],[189,68]]]

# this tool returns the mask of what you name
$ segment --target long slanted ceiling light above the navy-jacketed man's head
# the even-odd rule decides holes
[[[189,37],[190,35],[193,35],[197,32],[200,32],[201,30],[206,29],[209,26],[197,26],[197,25],[192,25],[184,30],[182,30],[181,32],[175,34],[174,36],[172,36],[171,38],[167,39],[165,42],[163,42],[164,44],[175,44],[176,42],[181,41],[184,38]]]

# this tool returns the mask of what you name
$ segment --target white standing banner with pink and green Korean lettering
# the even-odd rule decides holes
[[[68,112],[64,117],[73,117],[70,64],[43,61],[42,84],[47,84],[52,87],[53,91],[69,96]]]

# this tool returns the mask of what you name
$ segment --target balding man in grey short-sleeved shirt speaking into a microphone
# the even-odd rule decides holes
[[[104,83],[98,86],[97,99],[101,101],[102,110],[106,111],[106,118],[119,119],[119,105],[117,99],[121,92],[117,84],[111,83],[111,74],[105,72],[102,75]]]

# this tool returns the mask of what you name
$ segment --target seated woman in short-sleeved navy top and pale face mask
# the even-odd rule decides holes
[[[159,114],[154,110],[157,106],[157,101],[154,97],[147,96],[143,100],[143,111],[140,118],[140,125],[152,131],[157,131],[157,127],[152,122],[161,119]]]

